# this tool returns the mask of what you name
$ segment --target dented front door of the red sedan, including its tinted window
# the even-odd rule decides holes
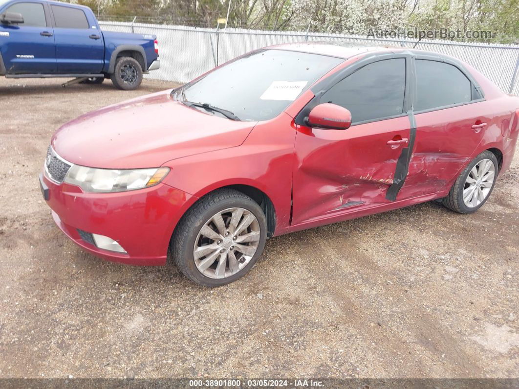
[[[397,161],[408,146],[406,58],[369,63],[320,98],[351,112],[347,130],[297,132],[292,225],[388,203]]]

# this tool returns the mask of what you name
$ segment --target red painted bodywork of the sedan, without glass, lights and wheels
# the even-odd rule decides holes
[[[345,59],[314,85],[369,56],[405,51],[322,44],[277,48]],[[171,172],[156,186],[120,193],[84,193],[44,177],[48,204],[58,226],[89,252],[122,263],[162,265],[184,212],[198,198],[228,185],[248,185],[268,196],[276,215],[274,235],[441,198],[484,150],[502,155],[500,173],[506,170],[519,132],[519,99],[464,66],[484,100],[414,115],[411,160],[395,200],[386,194],[411,138],[409,117],[353,124],[347,130],[296,124],[315,97],[310,88],[281,114],[260,122],[235,122],[188,108],[170,90],[81,116],[52,138],[53,149],[64,159],[97,168],[167,166]],[[472,128],[482,123],[486,126],[478,131]],[[76,229],[113,237],[128,253],[95,248]]]

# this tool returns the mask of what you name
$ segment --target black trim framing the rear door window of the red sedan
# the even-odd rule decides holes
[[[463,103],[441,105],[441,106],[429,108],[427,110],[415,111],[414,110],[414,105],[416,104],[416,101],[417,101],[416,100],[417,99],[416,88],[417,88],[417,85],[418,85],[417,79],[416,79],[416,62],[415,62],[417,59],[419,59],[419,60],[427,60],[427,61],[434,61],[434,62],[443,62],[443,63],[447,63],[449,65],[453,65],[456,69],[458,69],[469,80],[469,82],[470,82],[470,97],[471,97],[471,100],[463,102]],[[414,112],[415,115],[419,115],[419,114],[422,114],[422,113],[433,112],[433,111],[441,111],[441,110],[446,110],[446,109],[449,109],[449,108],[454,108],[454,107],[457,107],[457,106],[468,105],[468,104],[479,103],[481,101],[485,101],[485,95],[484,95],[484,92],[483,92],[483,89],[481,88],[481,86],[477,83],[477,81],[474,79],[472,74],[470,74],[470,72],[468,72],[465,69],[465,66],[463,66],[462,63],[460,63],[460,62],[458,62],[458,61],[456,61],[454,59],[446,58],[446,57],[441,56],[441,55],[417,54],[417,55],[414,55],[413,58],[412,58],[412,66],[413,66],[413,70],[414,70],[413,84],[414,84],[414,88],[415,88],[415,93],[414,93],[414,98],[413,98],[413,112]]]

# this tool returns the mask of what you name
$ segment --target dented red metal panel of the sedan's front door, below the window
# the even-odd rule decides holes
[[[409,138],[407,116],[359,124],[347,130],[298,129],[293,224],[327,213],[388,203],[397,160]]]

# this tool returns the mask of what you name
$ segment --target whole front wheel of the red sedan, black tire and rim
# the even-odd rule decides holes
[[[243,210],[242,214],[240,214],[241,210]],[[237,215],[235,218],[232,217],[235,215],[234,212]],[[226,232],[222,234],[218,232],[216,224],[211,224],[213,223],[213,217],[216,217],[217,214],[221,214],[224,221],[224,225],[221,226],[224,227]],[[233,236],[234,231],[237,231],[241,225],[247,224],[250,219],[255,219],[255,221],[243,231],[238,231],[237,236]],[[234,223],[236,228],[232,227],[233,220],[237,220]],[[217,241],[216,238],[210,239],[204,236],[201,231],[202,227],[205,229],[208,225],[222,239]],[[204,232],[206,231],[204,230]],[[229,231],[231,233],[226,237]],[[244,239],[244,234],[254,235],[254,239],[257,238],[258,240],[238,243],[240,239]],[[267,220],[261,207],[252,198],[241,192],[233,189],[222,189],[202,197],[184,214],[171,239],[170,256],[179,270],[194,283],[206,287],[216,287],[236,281],[251,270],[265,248],[266,239]],[[232,244],[236,246],[229,246]],[[215,248],[205,249],[205,251],[209,250],[208,254],[195,259],[195,250],[209,245]],[[243,250],[245,245],[250,246],[247,246],[249,249],[244,251],[255,248],[255,252],[251,252],[250,256],[241,253],[240,250]],[[240,248],[236,249],[238,246]],[[222,254],[222,250],[227,251]],[[233,253],[230,254],[230,251],[233,251]],[[214,262],[207,262],[211,261],[210,257],[214,255],[216,255]],[[231,255],[238,261],[233,260],[231,263]],[[223,266],[220,266],[221,258],[223,258]],[[204,267],[204,261],[206,261],[206,264],[212,263],[207,270],[201,270]],[[222,267],[225,276],[218,278],[218,269],[221,272]]]

